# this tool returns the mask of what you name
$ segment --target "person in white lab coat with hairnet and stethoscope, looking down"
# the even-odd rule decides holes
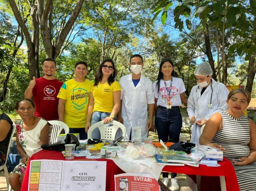
[[[196,145],[199,145],[201,127],[206,124],[207,120],[214,113],[228,108],[226,100],[229,91],[223,83],[212,79],[212,73],[208,62],[199,64],[194,71],[198,84],[191,89],[187,111],[192,124],[190,142]]]

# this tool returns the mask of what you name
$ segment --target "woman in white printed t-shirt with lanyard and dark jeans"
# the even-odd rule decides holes
[[[163,59],[160,63],[157,81],[153,83],[155,94],[155,124],[158,138],[163,142],[173,139],[179,141],[182,117],[180,112],[181,102],[187,104],[184,82],[181,78],[174,77],[174,65],[171,59]],[[171,190],[180,190],[177,183],[177,174],[171,174]],[[163,183],[167,186],[168,173],[163,173]]]

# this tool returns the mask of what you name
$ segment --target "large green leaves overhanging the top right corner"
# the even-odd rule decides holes
[[[255,33],[256,25],[254,18],[256,17],[256,1],[244,1],[244,0],[202,0],[202,1],[169,1],[160,0],[157,1],[152,7],[152,13],[159,14],[160,12],[166,12],[166,6],[169,3],[178,2],[174,9],[174,22],[175,28],[180,31],[183,30],[183,17],[189,17],[188,15],[193,15],[191,18],[196,17],[200,19],[200,24],[198,27],[203,27],[207,23],[210,27],[217,26],[220,31],[229,28],[234,29],[234,36],[243,37],[243,45],[240,42],[235,43],[229,48],[229,54],[233,54],[234,50],[237,50],[239,56],[245,56],[248,60],[252,53],[256,51],[255,44]],[[191,12],[191,8],[195,8],[194,12]],[[155,17],[153,19],[156,18]],[[225,20],[224,20],[225,19]],[[162,23],[165,24],[166,19],[163,19]],[[223,25],[225,22],[225,25]],[[186,19],[186,25],[189,30],[191,30],[191,22]],[[246,34],[246,35],[245,35]]]

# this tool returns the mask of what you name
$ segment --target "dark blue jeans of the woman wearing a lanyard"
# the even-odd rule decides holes
[[[155,119],[159,141],[163,142],[173,139],[179,142],[182,128],[182,117],[179,106],[173,106],[172,109],[158,106],[157,116]],[[172,173],[171,177],[175,178],[176,173]],[[168,173],[163,173],[163,177],[168,177]]]

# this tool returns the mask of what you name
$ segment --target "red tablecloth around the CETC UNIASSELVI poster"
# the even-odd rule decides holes
[[[30,160],[40,160],[40,159],[66,160],[65,157],[63,157],[61,152],[55,151],[55,150],[41,150],[41,151],[33,154],[30,158]],[[27,169],[25,171],[21,191],[27,191],[28,190],[30,160],[28,162]],[[90,160],[90,159],[86,159],[85,157],[76,157],[75,156],[74,160]],[[93,159],[93,160],[95,160],[95,159]],[[124,173],[124,171],[122,171],[113,162],[113,160],[106,159],[106,158],[101,158],[101,159],[97,159],[97,160],[98,161],[107,161],[106,191],[114,191],[115,190],[114,175]]]

